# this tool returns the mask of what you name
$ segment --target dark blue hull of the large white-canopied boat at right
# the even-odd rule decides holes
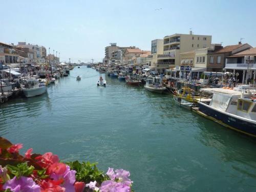
[[[256,137],[256,121],[247,121],[243,118],[236,117],[235,115],[215,110],[201,102],[198,102],[198,111],[200,112],[200,115],[214,120],[232,130]]]

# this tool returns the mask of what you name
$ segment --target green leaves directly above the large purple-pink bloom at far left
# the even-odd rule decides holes
[[[7,165],[9,172],[19,178],[20,176],[28,177],[33,173],[34,167],[28,166],[28,163],[20,163],[17,166]]]

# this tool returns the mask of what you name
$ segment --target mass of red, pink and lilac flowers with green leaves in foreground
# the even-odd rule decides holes
[[[0,191],[24,192],[130,192],[130,173],[109,168],[104,174],[96,164],[73,161],[63,163],[51,152],[25,156],[19,154],[23,145],[12,144],[0,137]]]

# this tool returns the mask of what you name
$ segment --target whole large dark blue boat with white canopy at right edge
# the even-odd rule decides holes
[[[256,91],[208,88],[200,91],[212,94],[209,104],[198,102],[195,112],[232,130],[256,137]]]

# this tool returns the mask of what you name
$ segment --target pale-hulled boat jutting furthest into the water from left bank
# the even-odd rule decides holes
[[[38,79],[29,78],[25,80],[25,84],[24,87],[22,87],[22,91],[26,97],[34,97],[46,93],[47,87],[44,83],[39,83]]]

